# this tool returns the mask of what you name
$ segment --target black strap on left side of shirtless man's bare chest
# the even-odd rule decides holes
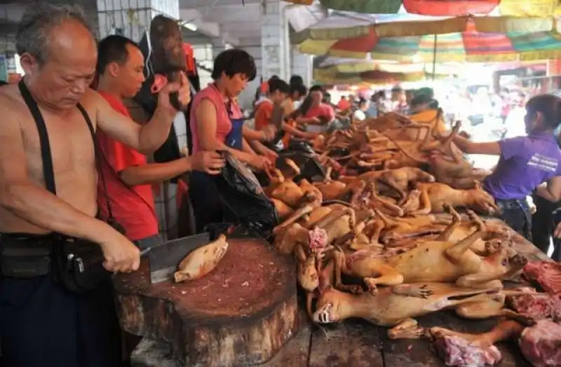
[[[55,172],[53,170],[53,156],[50,154],[50,144],[48,141],[48,132],[45,125],[45,120],[41,111],[39,111],[39,106],[37,102],[33,99],[31,93],[27,89],[27,86],[23,82],[23,79],[19,83],[20,93],[22,98],[27,104],[29,111],[35,120],[37,125],[37,131],[39,132],[39,141],[41,143],[41,160],[43,161],[43,177],[45,178],[45,186],[50,193],[57,195],[57,188],[55,185]]]

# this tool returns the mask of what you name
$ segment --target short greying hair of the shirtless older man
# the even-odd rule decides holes
[[[53,29],[68,20],[79,22],[93,37],[80,6],[57,6],[44,1],[27,6],[15,34],[15,50],[18,55],[29,53],[39,64],[46,62],[50,54],[50,35]]]

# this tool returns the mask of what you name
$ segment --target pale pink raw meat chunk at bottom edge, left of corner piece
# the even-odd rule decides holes
[[[446,366],[489,367],[503,358],[497,347],[482,349],[456,335],[445,335],[434,342],[434,347]]]

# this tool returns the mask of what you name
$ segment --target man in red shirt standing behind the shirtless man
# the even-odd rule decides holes
[[[136,43],[123,36],[108,36],[97,50],[97,91],[123,115],[129,116],[123,99],[134,97],[144,82],[144,56]],[[97,132],[101,154],[101,173],[107,183],[97,182],[100,214],[107,218],[107,202],[126,237],[140,249],[160,241],[151,184],[180,176],[191,170],[217,174],[224,162],[215,152],[201,151],[167,163],[147,163],[141,153]]]

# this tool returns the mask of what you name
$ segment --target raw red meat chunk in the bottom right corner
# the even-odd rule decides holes
[[[543,319],[525,328],[518,345],[535,367],[561,366],[561,326],[551,320]]]

